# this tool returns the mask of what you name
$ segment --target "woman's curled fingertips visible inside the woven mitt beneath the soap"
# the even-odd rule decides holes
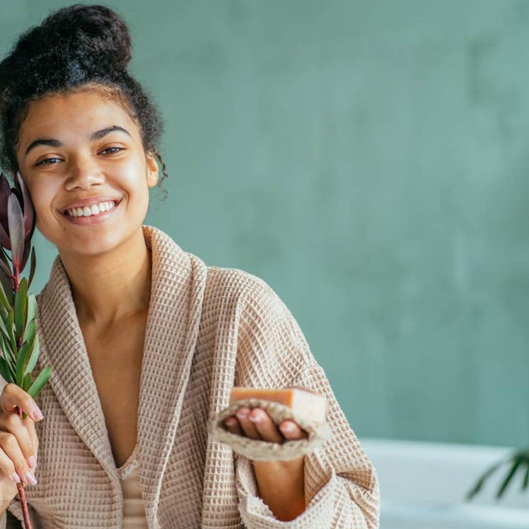
[[[281,422],[277,427],[262,408],[241,407],[235,415],[227,417],[224,423],[231,433],[261,441],[284,443],[308,437],[308,433],[292,419]]]

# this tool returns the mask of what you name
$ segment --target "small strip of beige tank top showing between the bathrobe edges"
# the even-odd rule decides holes
[[[140,489],[140,461],[136,458],[138,444],[121,467],[117,469],[123,491],[123,529],[147,529],[145,504]]]

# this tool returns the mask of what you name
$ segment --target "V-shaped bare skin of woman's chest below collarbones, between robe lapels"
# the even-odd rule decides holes
[[[131,455],[138,430],[138,403],[146,317],[104,334],[81,325],[116,467]]]

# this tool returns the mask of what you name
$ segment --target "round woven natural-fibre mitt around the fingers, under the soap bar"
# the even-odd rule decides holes
[[[293,421],[308,433],[308,439],[285,441],[281,444],[249,439],[249,437],[227,431],[224,425],[224,419],[230,415],[235,415],[235,412],[242,406],[249,408],[259,407],[266,410],[276,425],[279,425],[286,419],[293,419]],[[326,422],[315,422],[296,416],[285,404],[259,398],[246,398],[234,401],[229,407],[224,408],[212,419],[209,419],[207,431],[211,434],[214,441],[229,444],[234,452],[242,454],[254,461],[287,460],[296,458],[299,455],[309,454],[319,448],[331,435],[331,428]]]

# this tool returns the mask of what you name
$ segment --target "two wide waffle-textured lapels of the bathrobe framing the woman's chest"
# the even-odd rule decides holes
[[[152,251],[151,300],[143,346],[138,409],[140,487],[149,527],[156,512],[163,472],[175,439],[195,352],[207,267],[184,252],[166,233],[143,225]],[[39,363],[52,366],[49,384],[80,439],[111,478],[116,504],[123,507],[103,409],[90,368],[70,284],[58,256],[39,296],[46,346]],[[67,336],[65,340],[63,337]],[[42,369],[42,368],[41,368]]]

